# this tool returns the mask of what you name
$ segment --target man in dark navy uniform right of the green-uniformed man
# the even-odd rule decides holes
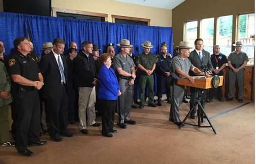
[[[158,106],[162,106],[161,98],[164,87],[166,87],[167,102],[170,102],[171,56],[167,55],[167,47],[165,42],[161,44],[161,52],[158,54],[156,63]]]

